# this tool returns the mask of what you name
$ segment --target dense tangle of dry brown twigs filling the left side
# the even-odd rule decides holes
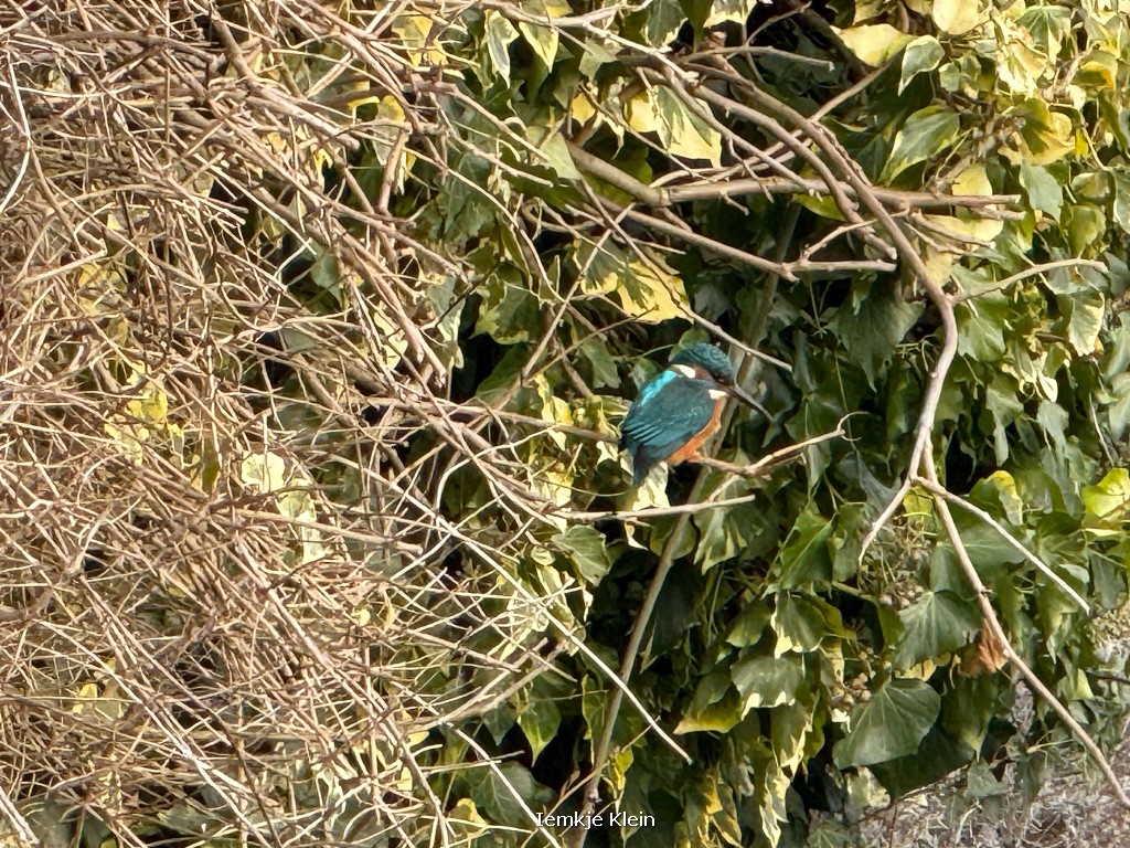
[[[341,842],[348,822],[455,843],[426,734],[551,670],[547,631],[580,650],[559,616],[575,587],[522,594],[495,568],[546,500],[477,426],[528,422],[433,392],[452,365],[412,262],[462,269],[390,215],[395,167],[357,208],[325,188],[322,167],[358,191],[366,144],[443,165],[442,85],[382,42],[386,11],[6,11],[0,817],[25,842],[59,804],[131,846],[139,810],[210,822],[197,839]],[[322,76],[288,77],[287,51],[320,42],[341,47]],[[347,77],[417,101],[365,122]],[[316,313],[279,269],[320,250],[344,277]],[[407,400],[362,421],[344,362]],[[436,455],[408,458],[425,430]],[[497,495],[506,533],[473,539],[489,566],[443,565],[471,538],[434,508],[452,458]]]

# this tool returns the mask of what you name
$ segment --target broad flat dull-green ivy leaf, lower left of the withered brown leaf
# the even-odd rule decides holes
[[[922,681],[890,680],[852,715],[852,730],[832,750],[837,768],[871,765],[918,751],[941,698]]]

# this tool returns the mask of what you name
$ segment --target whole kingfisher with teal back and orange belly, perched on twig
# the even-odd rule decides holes
[[[729,397],[768,413],[736,382],[727,355],[699,343],[675,354],[667,367],[640,389],[620,424],[620,450],[632,455],[632,476],[638,486],[662,461],[679,465],[699,458],[698,449],[722,421]]]

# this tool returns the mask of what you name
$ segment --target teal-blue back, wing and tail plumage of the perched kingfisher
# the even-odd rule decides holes
[[[620,425],[620,449],[632,455],[640,485],[651,469],[698,435],[714,416],[713,380],[684,377],[667,369],[640,389]]]

